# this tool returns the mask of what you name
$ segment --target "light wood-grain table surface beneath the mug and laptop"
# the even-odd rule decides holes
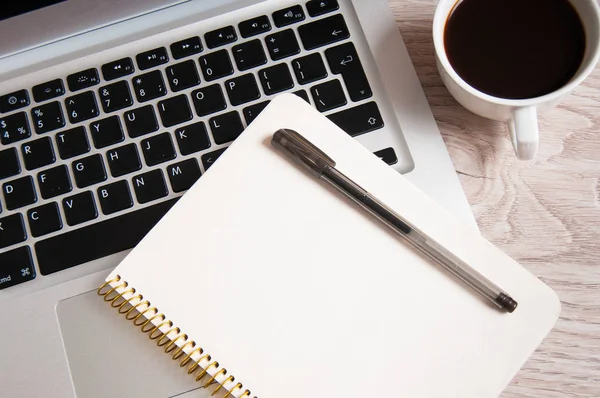
[[[462,108],[435,66],[436,0],[388,0],[482,234],[560,296],[554,330],[502,397],[600,397],[600,66],[540,118],[533,162]]]

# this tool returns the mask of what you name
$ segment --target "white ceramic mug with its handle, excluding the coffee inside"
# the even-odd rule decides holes
[[[597,0],[569,0],[579,14],[586,35],[583,61],[575,76],[554,92],[518,100],[498,98],[476,90],[452,68],[444,46],[444,29],[450,13],[459,1],[439,0],[433,19],[433,42],[442,80],[452,96],[471,112],[506,122],[517,158],[533,159],[539,145],[538,113],[558,104],[592,72],[600,59],[600,7]]]

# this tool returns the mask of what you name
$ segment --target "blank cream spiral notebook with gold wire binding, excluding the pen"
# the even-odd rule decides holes
[[[270,144],[280,128],[517,310],[498,311],[291,163]],[[495,397],[560,312],[548,286],[293,95],[272,101],[106,281],[98,293],[123,322],[221,397]]]

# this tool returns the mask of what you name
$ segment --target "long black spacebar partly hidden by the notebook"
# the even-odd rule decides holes
[[[111,218],[35,244],[42,275],[87,263],[137,245],[177,199]]]

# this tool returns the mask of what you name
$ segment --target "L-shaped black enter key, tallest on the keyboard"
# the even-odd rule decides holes
[[[352,43],[345,43],[325,51],[331,73],[341,74],[348,89],[348,95],[354,102],[373,95],[367,75],[362,67],[356,48]]]

